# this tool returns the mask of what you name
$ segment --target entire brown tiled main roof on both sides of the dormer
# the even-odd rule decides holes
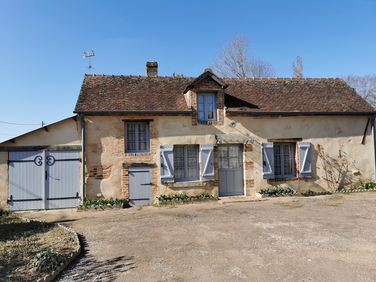
[[[199,78],[199,77],[198,77]],[[196,77],[85,75],[74,112],[187,111]],[[376,112],[341,78],[221,78],[227,112]]]

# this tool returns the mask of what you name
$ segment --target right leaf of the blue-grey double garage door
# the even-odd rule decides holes
[[[79,205],[79,152],[46,152],[46,209],[74,208]]]

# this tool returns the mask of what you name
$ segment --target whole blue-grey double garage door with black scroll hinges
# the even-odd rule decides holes
[[[79,152],[9,152],[9,209],[74,208],[79,204]]]

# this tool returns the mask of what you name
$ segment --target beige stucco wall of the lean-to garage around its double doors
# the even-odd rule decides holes
[[[53,146],[53,145],[80,145],[81,142],[81,119],[76,117],[66,118],[47,126],[33,130],[14,138],[14,143],[5,141],[0,143],[0,147],[17,147],[17,146]],[[79,153],[82,159],[82,152]],[[0,152],[0,206],[7,207],[6,200],[9,197],[9,170],[8,170],[8,152]],[[82,169],[82,163],[79,169]],[[80,194],[82,194],[81,182],[82,176],[79,174]]]

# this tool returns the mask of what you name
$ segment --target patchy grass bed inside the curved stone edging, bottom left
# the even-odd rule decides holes
[[[60,248],[68,258],[76,247],[74,242],[61,240],[67,233],[55,224],[26,222],[13,214],[3,214],[0,226],[0,277],[5,281],[36,281],[51,273],[28,268],[37,253]]]

